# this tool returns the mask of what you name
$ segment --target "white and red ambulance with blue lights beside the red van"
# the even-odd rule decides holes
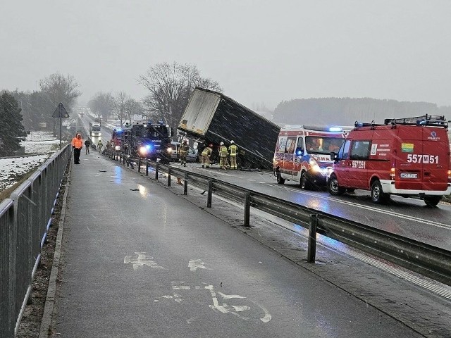
[[[302,189],[324,186],[332,166],[330,151],[338,151],[345,141],[341,127],[287,125],[280,129],[273,170],[277,182],[299,182]]]

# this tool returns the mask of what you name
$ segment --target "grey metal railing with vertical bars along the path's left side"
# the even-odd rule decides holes
[[[0,203],[0,337],[14,337],[72,147],[52,155]]]

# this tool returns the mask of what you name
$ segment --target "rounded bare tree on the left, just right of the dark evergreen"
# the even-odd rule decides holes
[[[73,75],[65,77],[60,73],[54,73],[39,81],[42,92],[46,92],[54,106],[61,102],[66,109],[72,109],[78,96],[82,94],[78,87],[80,84]]]

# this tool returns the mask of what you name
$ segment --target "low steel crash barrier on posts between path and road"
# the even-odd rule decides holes
[[[106,151],[106,156],[121,163],[127,162],[128,165],[128,160],[126,161],[119,153]],[[211,207],[211,196],[213,193],[242,202],[245,206],[244,225],[249,226],[249,209],[252,206],[302,227],[307,227],[309,229],[307,261],[309,262],[314,262],[316,232],[319,232],[366,253],[430,277],[433,280],[451,285],[451,251],[352,220],[346,220],[313,208],[307,208],[289,201],[282,201],[273,196],[261,194],[205,175],[191,173],[171,165],[139,159],[137,160],[138,171],[141,171],[141,165],[144,163],[146,165],[145,175],[149,175],[149,167],[154,168],[156,180],[159,178],[160,171],[166,173],[168,175],[168,186],[171,186],[171,176],[184,180],[184,194],[187,194],[188,182],[208,191],[208,194],[206,194],[207,207]]]

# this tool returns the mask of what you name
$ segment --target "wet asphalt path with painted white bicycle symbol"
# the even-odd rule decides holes
[[[292,232],[242,229],[242,212],[233,206],[214,198],[207,213],[206,197],[195,189],[185,197],[178,184],[168,188],[149,177],[94,151],[73,165],[54,337],[446,337],[447,319],[430,313],[431,302],[416,309],[429,318],[412,314],[419,323],[409,326],[418,332],[395,312],[371,306],[381,289],[399,283],[394,277],[362,271],[362,263],[352,267],[357,260],[340,254],[321,263],[334,254],[324,248],[319,263],[308,266]],[[367,275],[374,287],[365,284]],[[353,293],[340,285],[346,277]],[[365,287],[369,302],[356,296]],[[414,302],[413,290],[402,289],[385,289],[383,298],[398,293]],[[424,332],[422,319],[429,323]]]

